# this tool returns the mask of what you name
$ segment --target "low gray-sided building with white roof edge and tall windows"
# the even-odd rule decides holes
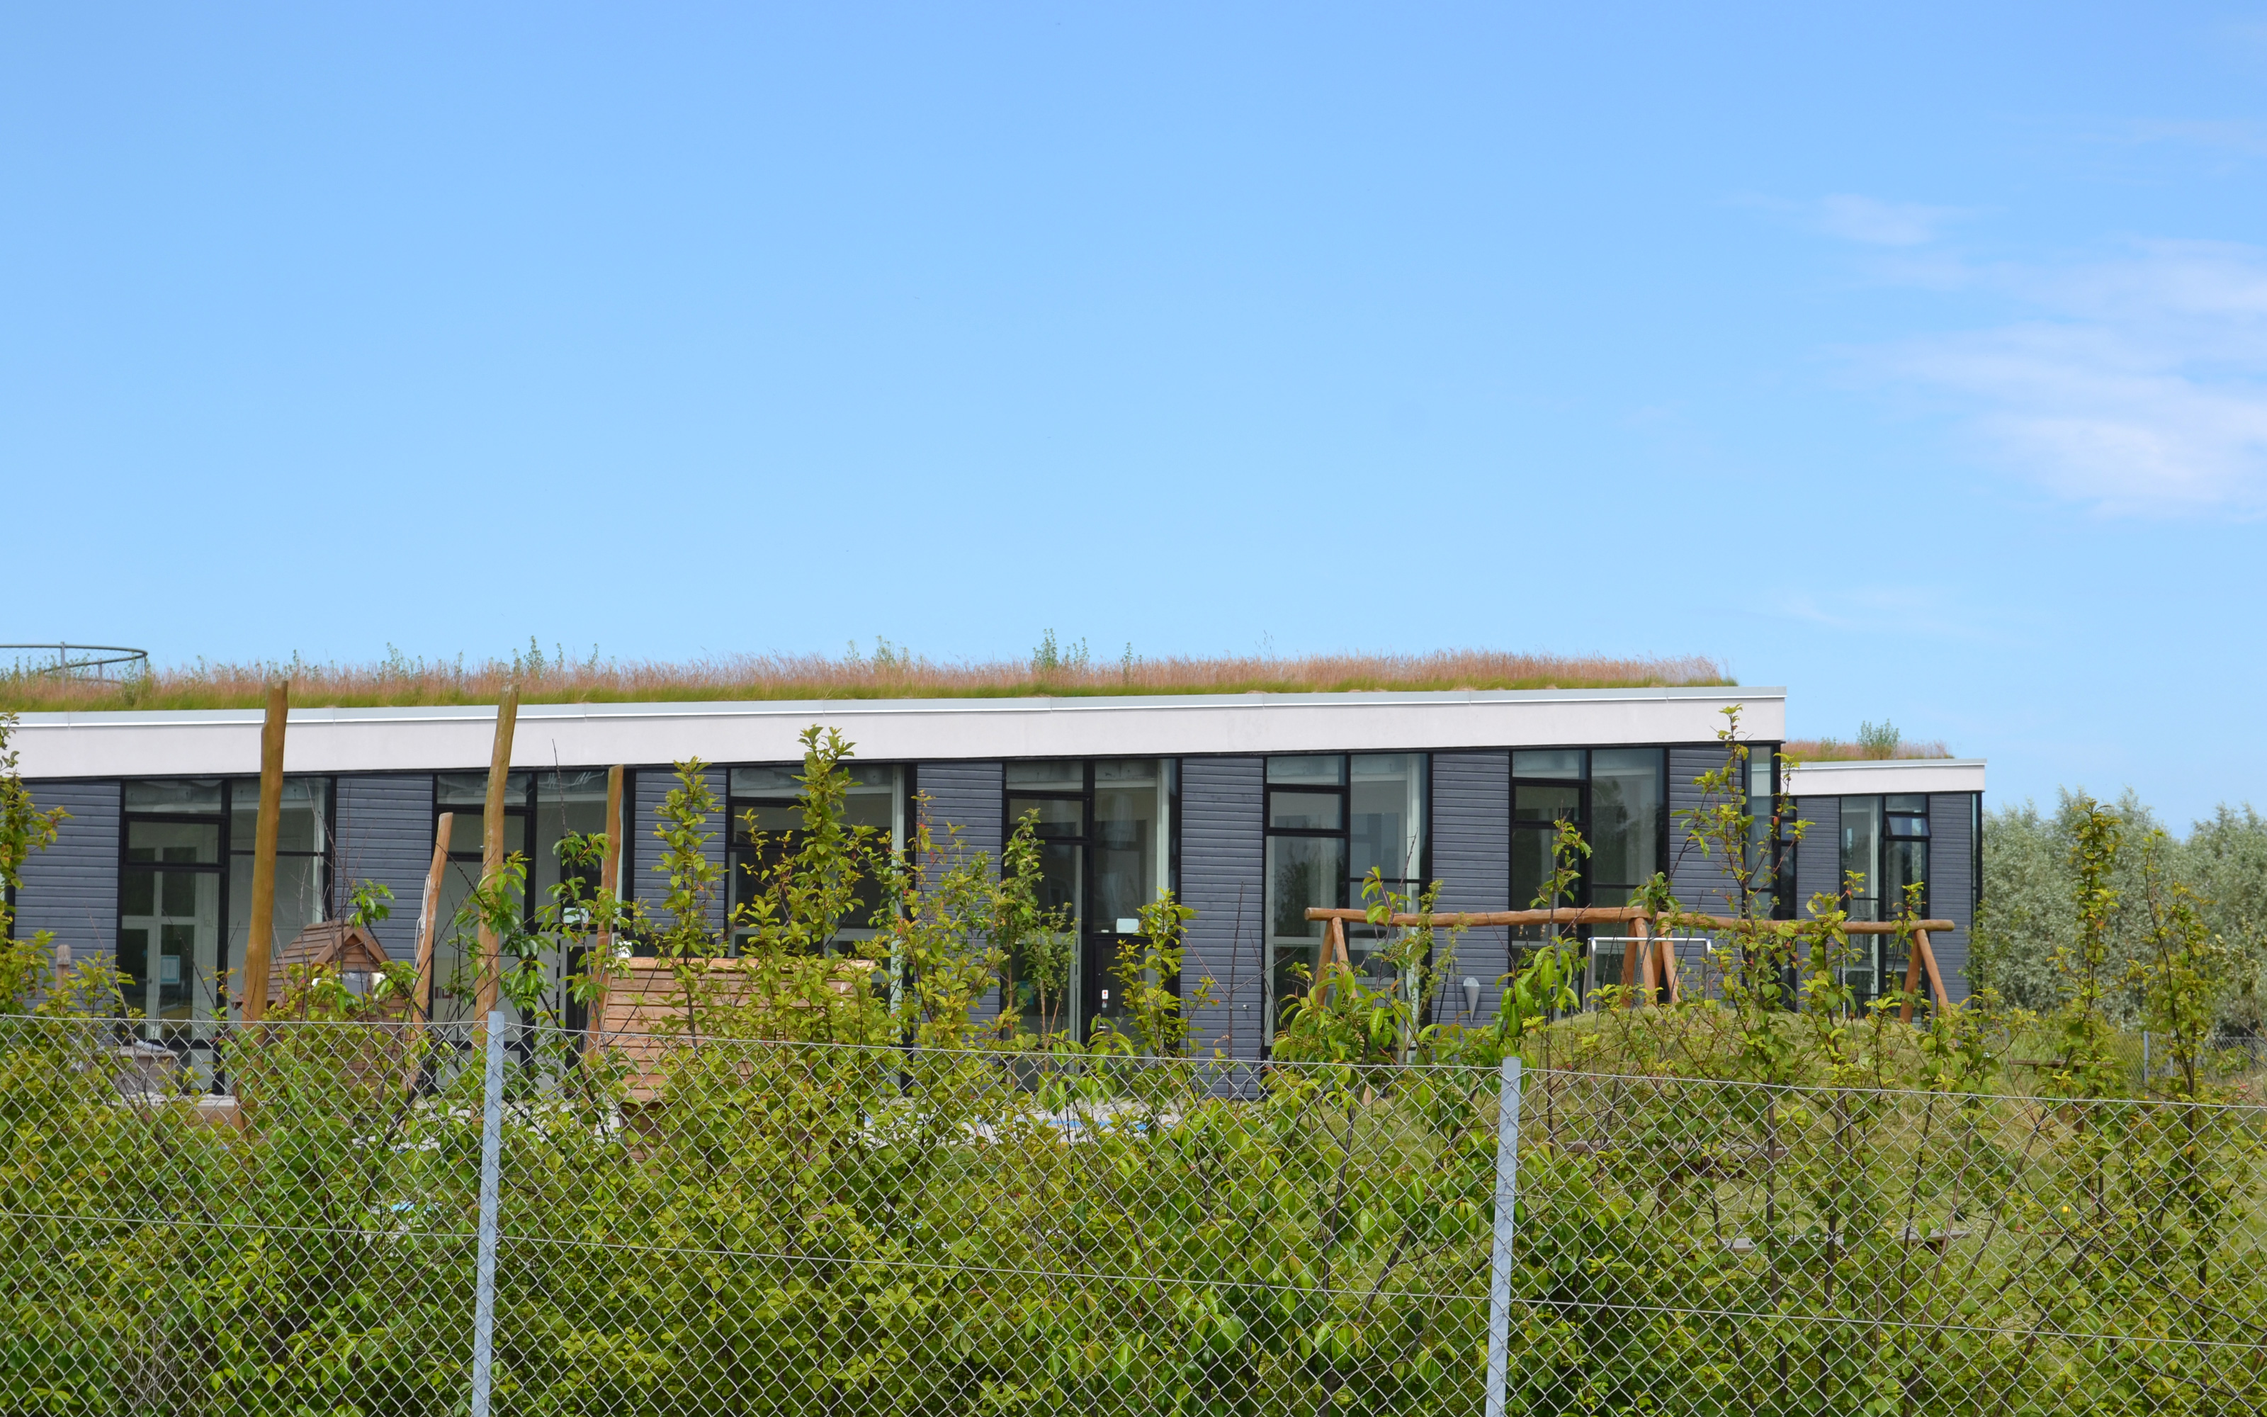
[[[542,900],[553,843],[605,825],[605,769],[626,764],[626,893],[657,907],[651,823],[676,780],[669,764],[703,760],[732,821],[793,825],[798,735],[839,728],[857,746],[852,816],[900,843],[923,809],[986,850],[1038,816],[1050,891],[1079,920],[1079,1018],[1109,1009],[1102,961],[1170,889],[1197,911],[1188,968],[1220,984],[1192,1018],[1195,1043],[1258,1057],[1288,968],[1315,957],[1306,907],[1356,902],[1372,868],[1401,891],[1444,882],[1442,909],[1526,907],[1551,866],[1553,823],[1569,818],[1594,848],[1582,902],[1621,905],[1666,871],[1689,909],[1725,909],[1723,859],[1682,839],[1678,812],[1698,805],[1693,780],[1723,766],[1716,735],[1734,705],[1755,744],[1750,789],[1768,794],[1784,689],[526,705],[506,834],[528,852],[528,896]],[[379,936],[408,957],[440,814],[456,814],[444,911],[478,873],[492,735],[492,707],[295,710],[277,945],[374,880],[397,902]],[[70,821],[25,871],[16,930],[116,954],[152,1018],[211,1018],[218,979],[243,959],[258,739],[258,710],[25,714],[23,775]],[[1934,945],[1947,986],[1965,993],[1984,764],[1807,764],[1786,789],[1814,825],[1782,852],[1780,911],[1836,893],[1852,871],[1866,882],[1857,916],[1891,911],[1902,884],[1920,882],[1925,911],[1956,923]],[[712,828],[712,857],[732,866],[728,821]],[[1512,948],[1503,930],[1460,945],[1483,1018]],[[1852,984],[1877,986],[1886,964]],[[458,966],[444,948],[435,973]],[[449,1007],[462,1004],[440,1013]]]

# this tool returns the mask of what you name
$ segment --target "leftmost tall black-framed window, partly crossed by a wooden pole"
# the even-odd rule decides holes
[[[118,970],[147,1038],[197,1043],[224,1018],[252,927],[258,778],[127,782],[118,866]],[[329,916],[331,780],[286,778],[277,823],[270,959]],[[281,968],[281,964],[277,966]]]

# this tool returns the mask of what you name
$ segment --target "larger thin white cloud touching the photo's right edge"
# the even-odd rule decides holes
[[[2033,315],[1877,349],[1879,367],[1961,399],[1990,456],[2063,497],[2267,512],[2267,252],[2147,243],[1979,283]]]

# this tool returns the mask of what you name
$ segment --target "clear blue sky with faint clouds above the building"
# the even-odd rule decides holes
[[[0,639],[1698,651],[2267,805],[2267,7],[1839,9],[14,7]]]

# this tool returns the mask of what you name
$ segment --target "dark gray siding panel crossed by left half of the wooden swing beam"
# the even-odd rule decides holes
[[[1433,880],[1437,909],[1517,909],[1512,900],[1512,755],[1433,755]],[[1469,930],[1455,945],[1455,968],[1442,984],[1435,1016],[1442,1023],[1494,1018],[1510,964],[1510,930]],[[1480,1009],[1464,1018],[1462,979],[1480,982]]]

